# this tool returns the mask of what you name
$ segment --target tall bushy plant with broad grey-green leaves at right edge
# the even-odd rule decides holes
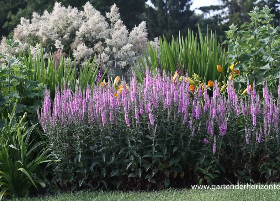
[[[279,40],[280,28],[273,28],[271,22],[274,14],[270,14],[271,8],[263,7],[259,11],[255,7],[248,13],[251,16],[251,23],[246,22],[239,30],[237,25],[231,25],[226,31],[228,40],[228,60],[229,62],[240,61],[233,67],[233,71],[239,70],[235,75],[235,86],[239,90],[246,85],[246,78],[256,81],[256,85],[262,83],[262,79],[268,82],[268,86],[277,91],[277,79],[279,78],[280,48]],[[259,88],[260,90],[260,88]]]

